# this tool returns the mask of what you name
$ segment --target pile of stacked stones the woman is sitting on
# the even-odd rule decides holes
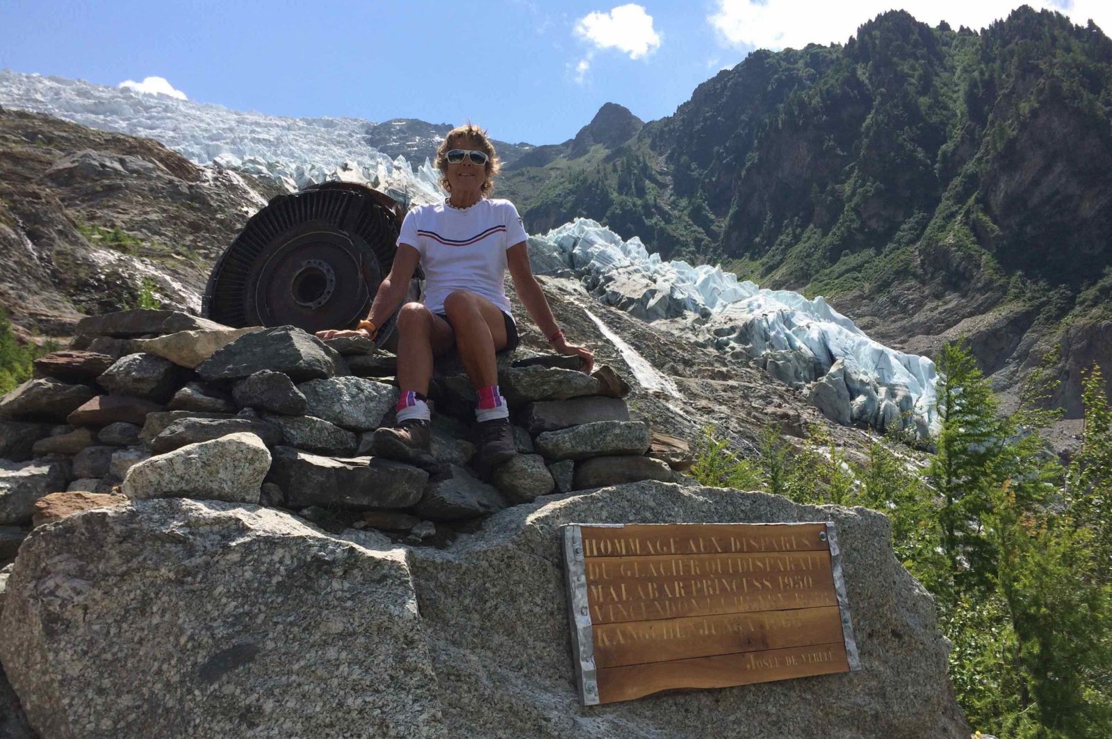
[[[261,503],[420,543],[538,496],[689,466],[682,442],[653,443],[629,420],[610,368],[522,353],[499,357],[520,453],[483,480],[469,467],[475,390],[454,358],[429,392],[430,472],[367,453],[398,397],[396,359],[367,340],[166,310],[86,318],[71,349],[0,398],[0,566],[29,526],[126,499]]]

